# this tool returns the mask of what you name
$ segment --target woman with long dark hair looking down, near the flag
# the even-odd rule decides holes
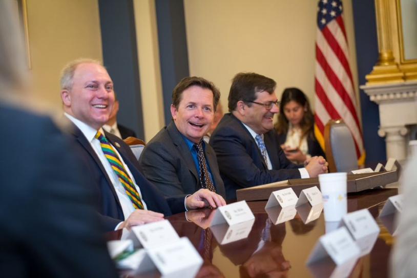
[[[300,89],[283,91],[275,129],[288,160],[302,164],[311,156],[325,156],[314,135],[314,116],[308,98]]]

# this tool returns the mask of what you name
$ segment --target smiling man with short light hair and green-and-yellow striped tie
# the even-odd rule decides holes
[[[84,158],[97,194],[98,211],[108,230],[160,221],[186,208],[217,207],[205,191],[165,198],[139,172],[139,165],[120,138],[102,129],[115,102],[113,81],[97,61],[79,59],[61,75],[65,115],[73,123],[77,152]]]

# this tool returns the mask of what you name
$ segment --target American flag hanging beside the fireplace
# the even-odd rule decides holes
[[[342,118],[355,141],[359,164],[365,160],[358,106],[349,66],[341,0],[320,0],[317,12],[315,133],[324,149],[324,126]]]

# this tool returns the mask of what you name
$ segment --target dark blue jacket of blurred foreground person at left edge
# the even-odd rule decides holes
[[[0,276],[117,277],[68,138],[3,104],[0,126]]]

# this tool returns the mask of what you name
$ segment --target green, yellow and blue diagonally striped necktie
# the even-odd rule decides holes
[[[135,185],[133,184],[133,181],[129,177],[128,172],[126,171],[126,169],[124,169],[123,163],[121,163],[120,158],[114,151],[112,145],[109,143],[107,138],[100,133],[100,131],[97,131],[95,138],[97,138],[98,141],[100,141],[100,146],[103,150],[103,153],[105,154],[107,160],[110,163],[110,166],[119,178],[119,181],[123,186],[124,190],[126,190],[126,194],[128,194],[128,197],[130,201],[132,201],[132,204],[135,207],[135,209],[143,209],[143,204],[140,200],[139,193],[137,192]]]

